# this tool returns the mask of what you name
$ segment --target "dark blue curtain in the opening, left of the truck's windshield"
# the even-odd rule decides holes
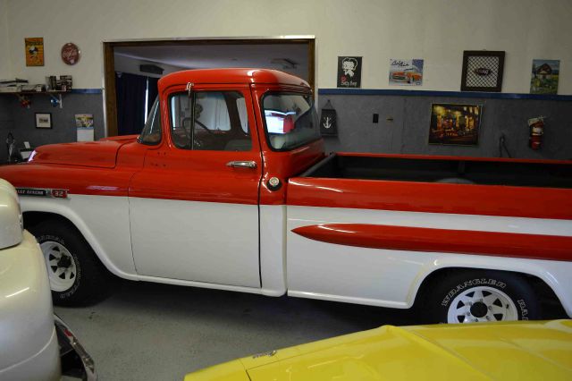
[[[139,134],[145,124],[147,77],[115,72],[118,135]]]

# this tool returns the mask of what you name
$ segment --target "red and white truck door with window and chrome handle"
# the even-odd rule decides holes
[[[139,275],[260,287],[262,158],[248,85],[166,89],[164,136],[130,182]]]

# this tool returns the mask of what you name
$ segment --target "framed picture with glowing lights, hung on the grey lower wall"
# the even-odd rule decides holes
[[[476,146],[482,117],[482,105],[433,103],[429,144]]]

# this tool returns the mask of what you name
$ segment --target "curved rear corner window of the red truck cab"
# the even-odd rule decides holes
[[[320,138],[309,94],[270,93],[262,100],[266,139],[275,150],[290,150]]]

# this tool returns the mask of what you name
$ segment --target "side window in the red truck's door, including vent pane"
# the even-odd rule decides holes
[[[192,113],[191,113],[192,110]],[[249,151],[244,96],[238,91],[196,91],[170,97],[172,141],[177,148]]]

